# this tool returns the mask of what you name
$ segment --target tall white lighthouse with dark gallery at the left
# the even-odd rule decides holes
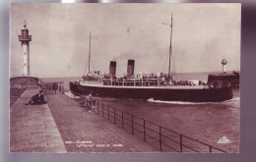
[[[21,41],[21,46],[23,48],[22,76],[30,76],[30,41],[32,41],[32,35],[29,34],[29,29],[27,28],[26,21],[24,21],[24,28],[22,29],[22,34],[19,35],[19,41]]]

